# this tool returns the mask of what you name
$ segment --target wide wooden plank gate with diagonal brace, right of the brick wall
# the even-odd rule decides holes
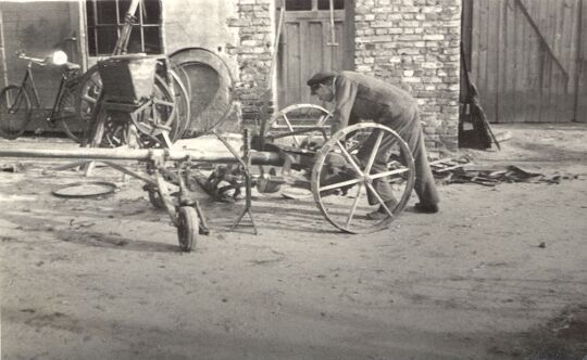
[[[473,0],[472,80],[494,123],[571,121],[575,118],[582,2]],[[467,29],[464,28],[466,31]],[[470,39],[470,40],[469,40]],[[585,35],[584,35],[585,39]]]

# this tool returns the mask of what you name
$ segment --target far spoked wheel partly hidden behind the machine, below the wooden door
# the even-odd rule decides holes
[[[261,133],[266,141],[282,145],[300,147],[303,140],[311,136],[322,137],[320,131],[309,131],[300,134],[292,132],[311,128],[322,128],[324,133],[328,133],[333,114],[326,108],[315,104],[289,105],[275,113],[263,124]]]

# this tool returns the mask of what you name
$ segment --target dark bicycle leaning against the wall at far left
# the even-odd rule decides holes
[[[75,41],[75,38],[65,40]],[[82,78],[80,66],[67,62],[64,51],[58,50],[40,59],[17,52],[20,60],[27,61],[25,75],[20,85],[9,85],[0,91],[0,136],[16,139],[22,136],[33,118],[33,110],[42,108],[37,86],[33,78],[33,65],[61,66],[61,80],[53,106],[45,120],[50,128],[61,125],[65,134],[80,142],[87,124],[77,115],[77,91]]]

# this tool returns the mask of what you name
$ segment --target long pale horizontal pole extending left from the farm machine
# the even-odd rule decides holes
[[[167,150],[167,149],[97,149],[80,147],[75,150],[47,149],[0,149],[0,157],[32,157],[32,158],[78,158],[96,160],[149,160],[163,158],[165,160],[196,163],[238,163],[230,153],[213,153],[199,150]],[[278,153],[251,151],[251,164],[280,166],[284,159]]]

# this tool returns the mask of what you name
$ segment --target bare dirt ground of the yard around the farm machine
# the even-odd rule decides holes
[[[2,359],[585,359],[587,126],[494,130],[502,151],[451,156],[560,182],[439,185],[439,214],[369,235],[279,195],[230,232],[243,204],[207,200],[191,253],[141,181],[60,198],[86,180],[64,162],[2,158],[25,168],[0,172]]]

